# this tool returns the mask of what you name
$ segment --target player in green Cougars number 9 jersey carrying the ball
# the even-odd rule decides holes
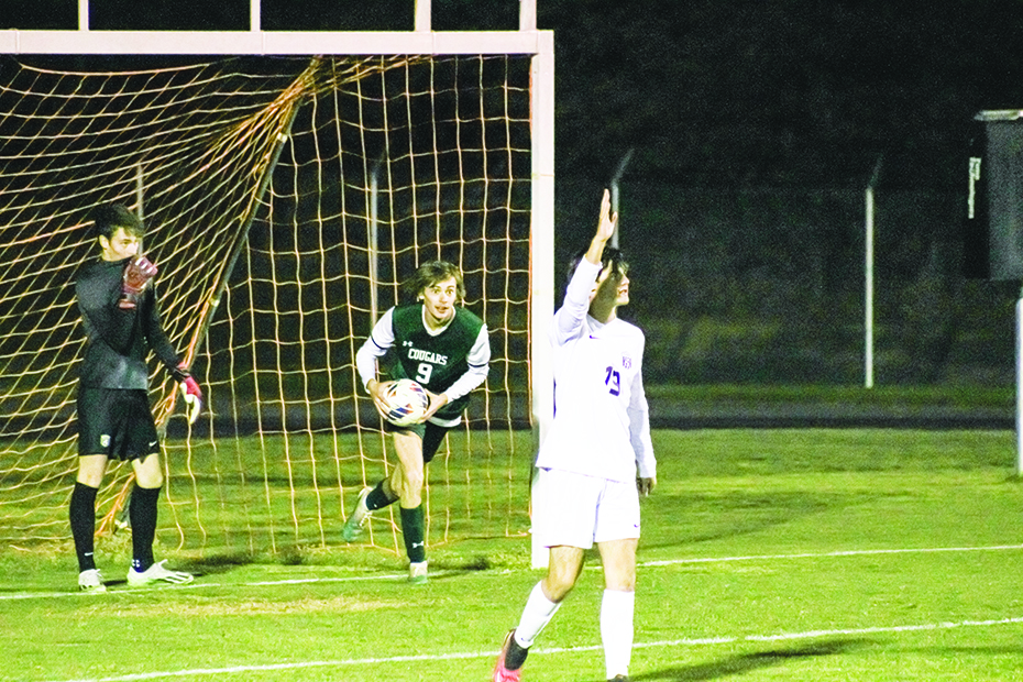
[[[427,580],[422,484],[426,465],[448,431],[462,420],[470,392],[486,380],[491,345],[486,324],[460,304],[465,285],[458,266],[444,261],[421,265],[404,284],[416,302],[387,310],[355,353],[355,366],[381,414],[383,396],[392,382],[410,378],[430,396],[419,424],[385,428],[394,435],[398,466],[391,476],[359,495],[342,535],[354,540],[369,514],[399,503],[402,532],[408,553],[409,580]],[[388,370],[388,381],[377,377],[377,361]]]

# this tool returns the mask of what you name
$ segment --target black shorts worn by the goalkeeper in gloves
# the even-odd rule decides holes
[[[78,387],[78,454],[134,460],[160,452],[145,391]]]

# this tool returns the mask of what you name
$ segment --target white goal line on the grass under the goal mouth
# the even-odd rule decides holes
[[[867,556],[881,556],[881,554],[925,554],[925,553],[938,553],[938,552],[997,552],[997,551],[1011,551],[1011,550],[1023,550],[1023,544],[990,544],[986,547],[923,547],[923,548],[905,548],[905,549],[856,549],[856,550],[837,550],[833,552],[800,552],[792,554],[750,554],[746,557],[703,557],[703,558],[691,558],[691,559],[662,559],[657,561],[642,561],[637,565],[639,568],[649,568],[649,566],[669,566],[669,565],[683,565],[689,563],[726,563],[734,561],[781,561],[781,560],[791,560],[791,559],[826,559],[826,558],[840,558],[840,557],[867,557]],[[587,569],[600,569],[600,566],[587,565]],[[462,571],[435,571],[433,575],[451,575],[460,574]],[[230,586],[245,586],[245,587],[258,587],[258,586],[274,586],[274,585],[298,585],[298,584],[311,584],[311,583],[348,583],[348,582],[364,582],[364,581],[376,581],[376,580],[406,580],[407,574],[405,573],[393,573],[393,574],[373,574],[373,575],[350,575],[345,578],[298,578],[298,579],[284,579],[284,580],[266,580],[257,581],[251,583],[211,583],[207,581],[199,581],[195,583],[189,583],[187,585],[166,585],[163,590],[202,590],[207,587],[230,587]],[[152,587],[139,587],[135,590],[125,588],[117,590],[118,594],[131,593],[131,592],[150,592]],[[14,600],[44,600],[44,598],[61,598],[61,597],[80,597],[80,598],[102,598],[101,594],[82,594],[79,592],[20,592],[12,594],[0,594],[0,602],[14,601]]]

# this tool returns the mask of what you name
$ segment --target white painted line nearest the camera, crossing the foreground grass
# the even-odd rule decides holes
[[[666,639],[660,641],[636,642],[635,649],[653,649],[658,647],[700,647],[713,645],[728,645],[741,642],[772,642],[772,641],[791,641],[798,639],[814,639],[820,637],[836,636],[856,636],[856,635],[879,635],[889,632],[920,632],[949,630],[966,627],[994,627],[999,625],[1020,625],[1023,624],[1023,617],[1000,618],[994,620],[960,620],[958,623],[923,623],[916,625],[894,625],[888,627],[862,627],[862,628],[842,628],[833,630],[809,630],[805,632],[780,632],[776,635],[746,635],[735,637],[708,637],[702,639]],[[530,650],[535,656],[550,653],[568,653],[579,651],[598,651],[600,645],[585,647],[537,647]],[[81,678],[77,680],[61,680],[51,682],[135,682],[136,680],[161,680],[161,679],[187,679],[198,675],[213,674],[238,674],[245,672],[267,672],[284,670],[304,670],[309,668],[341,668],[351,666],[374,666],[381,663],[404,663],[404,662],[429,662],[429,661],[452,661],[461,659],[494,658],[497,650],[490,651],[463,651],[452,653],[422,653],[418,656],[392,656],[382,658],[353,658],[337,659],[329,661],[306,661],[301,663],[270,663],[265,666],[233,666],[230,668],[194,668],[189,670],[174,670],[162,672],[141,672],[127,675],[112,675],[106,678]]]

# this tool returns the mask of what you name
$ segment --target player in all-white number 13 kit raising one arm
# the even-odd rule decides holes
[[[605,191],[596,234],[572,265],[550,331],[554,419],[537,458],[532,514],[550,563],[505,638],[494,682],[518,682],[529,647],[575,586],[594,543],[604,565],[607,678],[628,680],[639,494],[657,484],[657,463],[642,388],[644,334],[617,315],[629,302],[629,278],[622,254],[606,248],[616,221]]]

